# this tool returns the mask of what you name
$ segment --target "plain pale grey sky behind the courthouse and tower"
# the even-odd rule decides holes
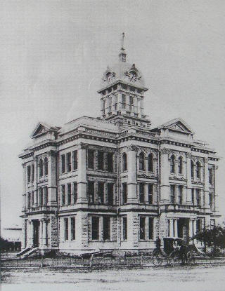
[[[21,224],[18,154],[39,121],[53,126],[99,116],[96,93],[107,65],[127,61],[146,87],[153,128],[181,117],[219,157],[217,194],[225,214],[225,1],[1,0],[1,227]]]

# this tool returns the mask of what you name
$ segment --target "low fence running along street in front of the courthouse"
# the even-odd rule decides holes
[[[192,264],[224,264],[225,257],[195,257]],[[166,265],[167,260],[163,260],[162,265]],[[92,257],[89,259],[73,257],[57,258],[27,258],[27,259],[5,259],[1,260],[1,267],[30,267],[30,266],[52,266],[52,267],[77,267],[87,268],[91,266],[154,266],[152,256],[138,257]]]

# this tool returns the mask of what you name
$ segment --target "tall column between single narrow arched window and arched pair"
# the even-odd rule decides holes
[[[136,146],[127,147],[127,203],[137,203]]]

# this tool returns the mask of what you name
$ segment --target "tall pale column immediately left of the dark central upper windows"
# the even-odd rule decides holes
[[[88,203],[86,197],[86,148],[87,144],[79,144],[77,149],[77,204]]]

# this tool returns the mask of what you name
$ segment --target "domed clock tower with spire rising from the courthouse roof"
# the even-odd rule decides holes
[[[150,120],[143,112],[145,87],[143,76],[135,64],[127,62],[122,34],[119,62],[107,67],[101,80],[101,119],[126,128],[149,128]]]

